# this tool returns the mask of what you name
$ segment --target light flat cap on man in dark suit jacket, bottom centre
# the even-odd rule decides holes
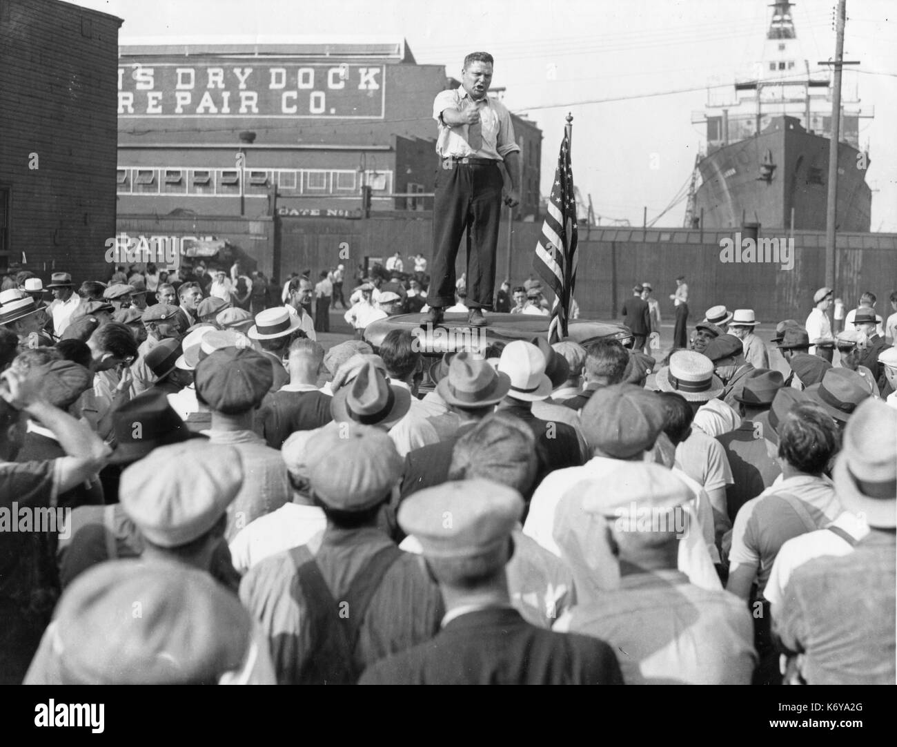
[[[488,479],[462,479],[424,488],[398,509],[398,523],[430,558],[494,557],[501,563],[511,532],[523,515],[514,488]]]

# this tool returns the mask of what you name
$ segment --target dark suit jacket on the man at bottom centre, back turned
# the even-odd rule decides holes
[[[436,637],[370,665],[361,685],[622,685],[599,638],[536,628],[511,609],[467,612]]]

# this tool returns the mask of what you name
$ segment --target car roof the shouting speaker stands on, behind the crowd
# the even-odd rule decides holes
[[[364,330],[364,338],[377,348],[392,330],[408,330],[415,338],[424,356],[424,379],[421,391],[431,391],[430,366],[445,353],[472,350],[485,354],[486,348],[494,343],[507,344],[516,339],[531,341],[533,338],[547,338],[550,317],[536,314],[489,313],[485,327],[471,327],[467,324],[466,313],[447,313],[439,326],[421,326],[423,314],[396,314],[369,324]],[[624,347],[632,344],[632,333],[623,324],[605,321],[570,321],[566,339],[588,345],[597,339],[618,339]]]

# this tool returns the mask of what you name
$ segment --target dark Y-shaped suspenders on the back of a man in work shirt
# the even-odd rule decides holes
[[[361,623],[387,571],[402,555],[396,545],[379,550],[335,600],[318,563],[304,545],[290,550],[302,595],[307,600],[311,655],[299,672],[301,684],[354,684],[361,676],[355,648]]]

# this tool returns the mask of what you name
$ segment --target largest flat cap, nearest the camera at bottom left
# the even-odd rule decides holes
[[[50,635],[64,684],[217,684],[241,669],[252,622],[205,571],[123,560],[74,579]]]

